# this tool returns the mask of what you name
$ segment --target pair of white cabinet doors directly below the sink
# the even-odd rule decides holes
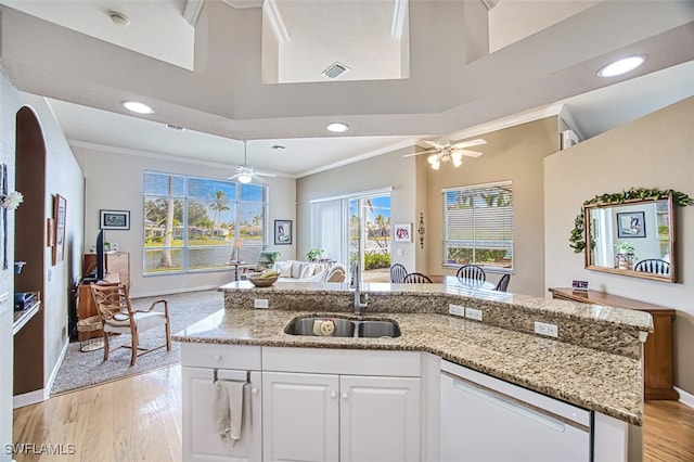
[[[265,461],[420,460],[420,378],[264,372],[262,388]]]

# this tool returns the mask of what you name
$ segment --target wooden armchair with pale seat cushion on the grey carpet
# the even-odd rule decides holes
[[[166,300],[152,303],[149,309],[139,310],[132,308],[128,287],[123,284],[99,285],[91,284],[91,293],[94,297],[97,311],[101,317],[104,331],[104,361],[108,359],[108,335],[125,334],[130,335],[131,345],[121,345],[131,348],[130,365],[134,365],[138,356],[166,347],[171,350],[171,322],[169,320],[169,306]],[[163,305],[164,311],[156,311],[154,307]],[[166,344],[144,349],[140,347],[140,334],[152,328],[164,326],[166,332]],[[118,347],[120,348],[120,347]],[[116,348],[116,349],[118,349]],[[138,355],[138,349],[141,350]]]

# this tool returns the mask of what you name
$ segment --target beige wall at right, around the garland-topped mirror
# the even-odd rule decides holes
[[[694,197],[694,98],[558,152],[544,161],[545,287],[573,279],[590,288],[673,308],[674,381],[694,393],[694,207],[676,207],[678,283],[583,268],[568,236],[583,201],[631,187],[673,189]]]

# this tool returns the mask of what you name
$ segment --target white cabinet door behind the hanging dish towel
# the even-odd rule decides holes
[[[220,380],[245,380],[246,371],[219,370]],[[215,434],[213,427],[214,371],[182,368],[183,460],[257,462],[262,453],[261,375],[250,373],[244,388],[241,439],[232,447]]]

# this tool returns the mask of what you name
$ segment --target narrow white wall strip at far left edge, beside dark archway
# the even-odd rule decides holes
[[[15,114],[20,108],[20,95],[0,68],[0,163],[8,164],[14,171]],[[10,189],[14,189],[14,176],[9,176]],[[8,214],[9,235],[14,235],[14,214]],[[10,246],[10,261],[14,261],[14,246]],[[12,442],[12,387],[13,387],[13,347],[12,323],[14,315],[14,273],[0,271],[0,294],[9,294],[8,303],[0,304],[0,448]],[[0,450],[0,461],[12,458]]]

